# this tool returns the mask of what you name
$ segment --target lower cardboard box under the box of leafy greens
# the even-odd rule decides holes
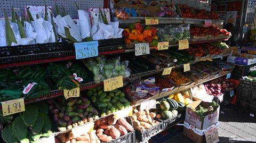
[[[205,143],[206,139],[204,136],[204,132],[207,131],[208,129],[211,128],[219,128],[220,124],[219,122],[216,124],[211,125],[211,127],[204,129],[204,130],[199,130],[195,128],[193,125],[187,123],[186,121],[184,122],[184,128],[183,128],[183,134],[184,136],[188,137],[189,139],[193,140],[196,143]]]

